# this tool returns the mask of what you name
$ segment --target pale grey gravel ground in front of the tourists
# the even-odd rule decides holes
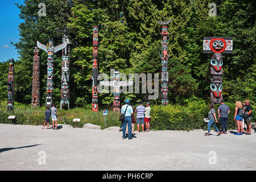
[[[61,126],[0,124],[0,170],[256,170],[254,129],[220,137],[213,130],[208,137],[204,130],[150,131],[123,140],[118,127]]]

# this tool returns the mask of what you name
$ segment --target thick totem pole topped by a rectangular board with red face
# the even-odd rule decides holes
[[[210,57],[210,103],[220,104],[222,100],[222,53],[232,53],[232,37],[204,37],[203,53]]]

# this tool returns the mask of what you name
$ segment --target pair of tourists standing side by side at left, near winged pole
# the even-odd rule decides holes
[[[49,129],[49,121],[50,117],[52,118],[52,129],[58,130],[57,128],[57,108],[55,104],[52,104],[51,110],[49,106],[46,107],[46,113],[44,114],[44,126],[46,126],[47,123],[47,129]],[[55,127],[54,127],[55,124]],[[44,126],[42,129],[44,129]]]

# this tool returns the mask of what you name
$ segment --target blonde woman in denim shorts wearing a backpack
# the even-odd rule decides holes
[[[234,121],[237,122],[237,133],[235,135],[242,135],[243,134],[243,115],[245,111],[243,111],[243,106],[240,101],[236,102],[236,109],[234,115]]]

